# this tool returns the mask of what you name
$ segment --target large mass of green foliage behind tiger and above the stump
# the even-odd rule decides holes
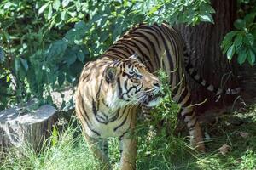
[[[24,0],[0,3],[0,110],[74,86],[95,59],[131,26],[164,20],[213,22],[209,0]]]

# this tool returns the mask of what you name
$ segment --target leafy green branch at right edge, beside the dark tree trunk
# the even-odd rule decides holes
[[[234,54],[237,55],[237,62],[241,65],[247,62],[255,64],[256,54],[256,1],[241,0],[238,14],[240,18],[234,22],[236,31],[230,31],[222,42],[221,48],[231,60]]]

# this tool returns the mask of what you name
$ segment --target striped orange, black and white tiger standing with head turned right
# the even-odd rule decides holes
[[[137,142],[133,134],[137,115],[160,103],[161,82],[154,75],[160,69],[166,72],[172,99],[181,108],[179,114],[189,129],[191,146],[205,151],[185,70],[194,74],[201,85],[207,84],[196,77],[190,65],[186,67],[184,46],[179,31],[172,26],[140,24],[133,26],[98,59],[84,65],[76,90],[75,110],[90,150],[105,169],[111,169],[105,154],[108,137],[119,138],[120,169],[136,169]],[[101,140],[102,149],[97,145]]]

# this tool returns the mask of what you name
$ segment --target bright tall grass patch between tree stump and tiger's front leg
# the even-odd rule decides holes
[[[75,135],[79,127],[69,126],[58,136],[47,139],[42,150],[36,153],[30,145],[19,150],[9,150],[9,154],[0,169],[97,169],[96,161],[88,150],[81,133]],[[22,153],[22,155],[17,154]]]

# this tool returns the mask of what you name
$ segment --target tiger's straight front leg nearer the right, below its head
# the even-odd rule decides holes
[[[136,156],[137,156],[137,141],[134,136],[125,135],[120,139],[121,145],[121,170],[135,170],[136,169]]]

